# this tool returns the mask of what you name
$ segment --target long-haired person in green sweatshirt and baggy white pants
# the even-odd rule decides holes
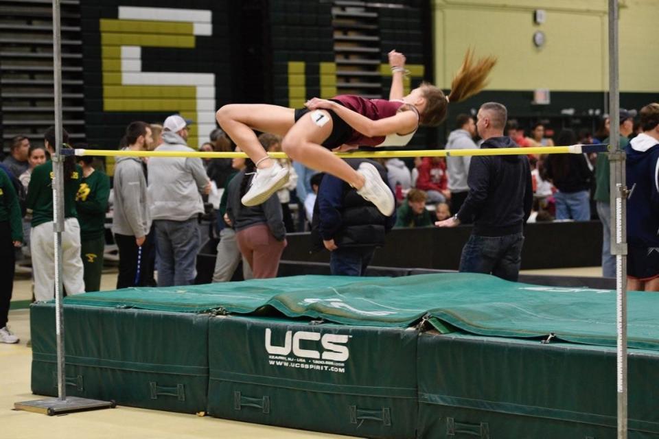
[[[44,134],[44,145],[55,154],[55,128]],[[62,130],[63,143],[69,134]],[[30,253],[34,275],[34,298],[51,300],[55,296],[55,251],[53,246],[53,163],[48,161],[32,171],[25,206],[32,213]],[[64,161],[64,231],[62,232],[62,280],[67,294],[84,293],[83,267],[80,259],[80,224],[76,211],[76,193],[80,188],[82,168],[74,156]]]

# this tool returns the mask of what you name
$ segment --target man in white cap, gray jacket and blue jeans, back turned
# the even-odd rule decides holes
[[[188,122],[172,115],[163,123],[163,143],[156,151],[192,152]],[[200,193],[211,182],[201,158],[152,157],[147,164],[151,217],[156,229],[158,286],[192,285],[200,248],[198,215],[204,213]]]

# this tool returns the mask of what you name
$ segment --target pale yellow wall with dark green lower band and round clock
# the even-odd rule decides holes
[[[621,0],[619,33],[620,104],[637,110],[656,102],[659,58],[647,41],[659,16],[659,2]],[[432,0],[435,82],[450,88],[469,47],[492,54],[498,64],[487,89],[449,106],[438,131],[446,143],[461,112],[476,114],[487,101],[505,104],[509,118],[527,130],[542,121],[555,133],[562,128],[598,130],[608,112],[608,1],[606,0]],[[534,22],[544,10],[546,21]],[[545,43],[536,47],[535,32]],[[535,104],[533,91],[550,91],[548,104]]]

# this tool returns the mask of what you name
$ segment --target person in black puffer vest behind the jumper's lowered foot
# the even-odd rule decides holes
[[[354,169],[362,162],[370,163],[378,169],[382,180],[387,181],[386,169],[379,163],[363,158],[349,158],[346,162]],[[375,248],[384,246],[384,234],[395,222],[395,212],[386,217],[343,180],[329,174],[323,177],[314,206],[312,230],[330,252],[332,274],[362,276]]]

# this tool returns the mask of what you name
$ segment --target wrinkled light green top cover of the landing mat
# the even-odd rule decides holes
[[[191,287],[122,289],[80,294],[70,305],[177,312],[255,313],[341,324],[408,327],[430,318],[438,328],[476,335],[548,337],[616,345],[616,293],[542,287],[485,274],[398,278],[292,276]],[[629,347],[659,350],[659,295],[628,294]]]

